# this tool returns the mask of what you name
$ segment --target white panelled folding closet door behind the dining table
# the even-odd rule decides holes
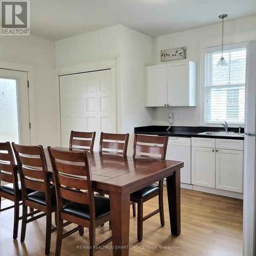
[[[61,146],[69,145],[71,130],[96,132],[98,151],[100,132],[116,132],[115,86],[111,70],[59,77]]]

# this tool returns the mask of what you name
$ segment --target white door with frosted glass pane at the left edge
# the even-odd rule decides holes
[[[0,142],[30,145],[27,72],[0,69]]]

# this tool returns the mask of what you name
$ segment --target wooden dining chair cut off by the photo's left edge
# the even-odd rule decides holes
[[[18,181],[17,166],[10,142],[0,143],[0,212],[14,207],[13,239],[18,236],[19,203],[22,201],[22,187]],[[1,182],[8,182],[2,185]],[[1,209],[1,197],[14,202],[14,205]]]

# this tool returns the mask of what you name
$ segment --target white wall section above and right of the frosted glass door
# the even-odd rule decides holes
[[[55,43],[38,36],[1,36],[0,60],[33,66],[32,144],[57,145]]]

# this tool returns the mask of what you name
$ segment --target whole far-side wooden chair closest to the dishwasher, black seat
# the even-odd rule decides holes
[[[168,136],[134,136],[134,153],[136,156],[158,157],[165,160]],[[143,217],[143,203],[158,196],[159,208]],[[164,226],[163,211],[163,180],[158,185],[151,184],[131,194],[131,202],[138,204],[138,220],[137,220],[137,238],[141,241],[143,238],[143,221],[160,213],[160,223]]]

